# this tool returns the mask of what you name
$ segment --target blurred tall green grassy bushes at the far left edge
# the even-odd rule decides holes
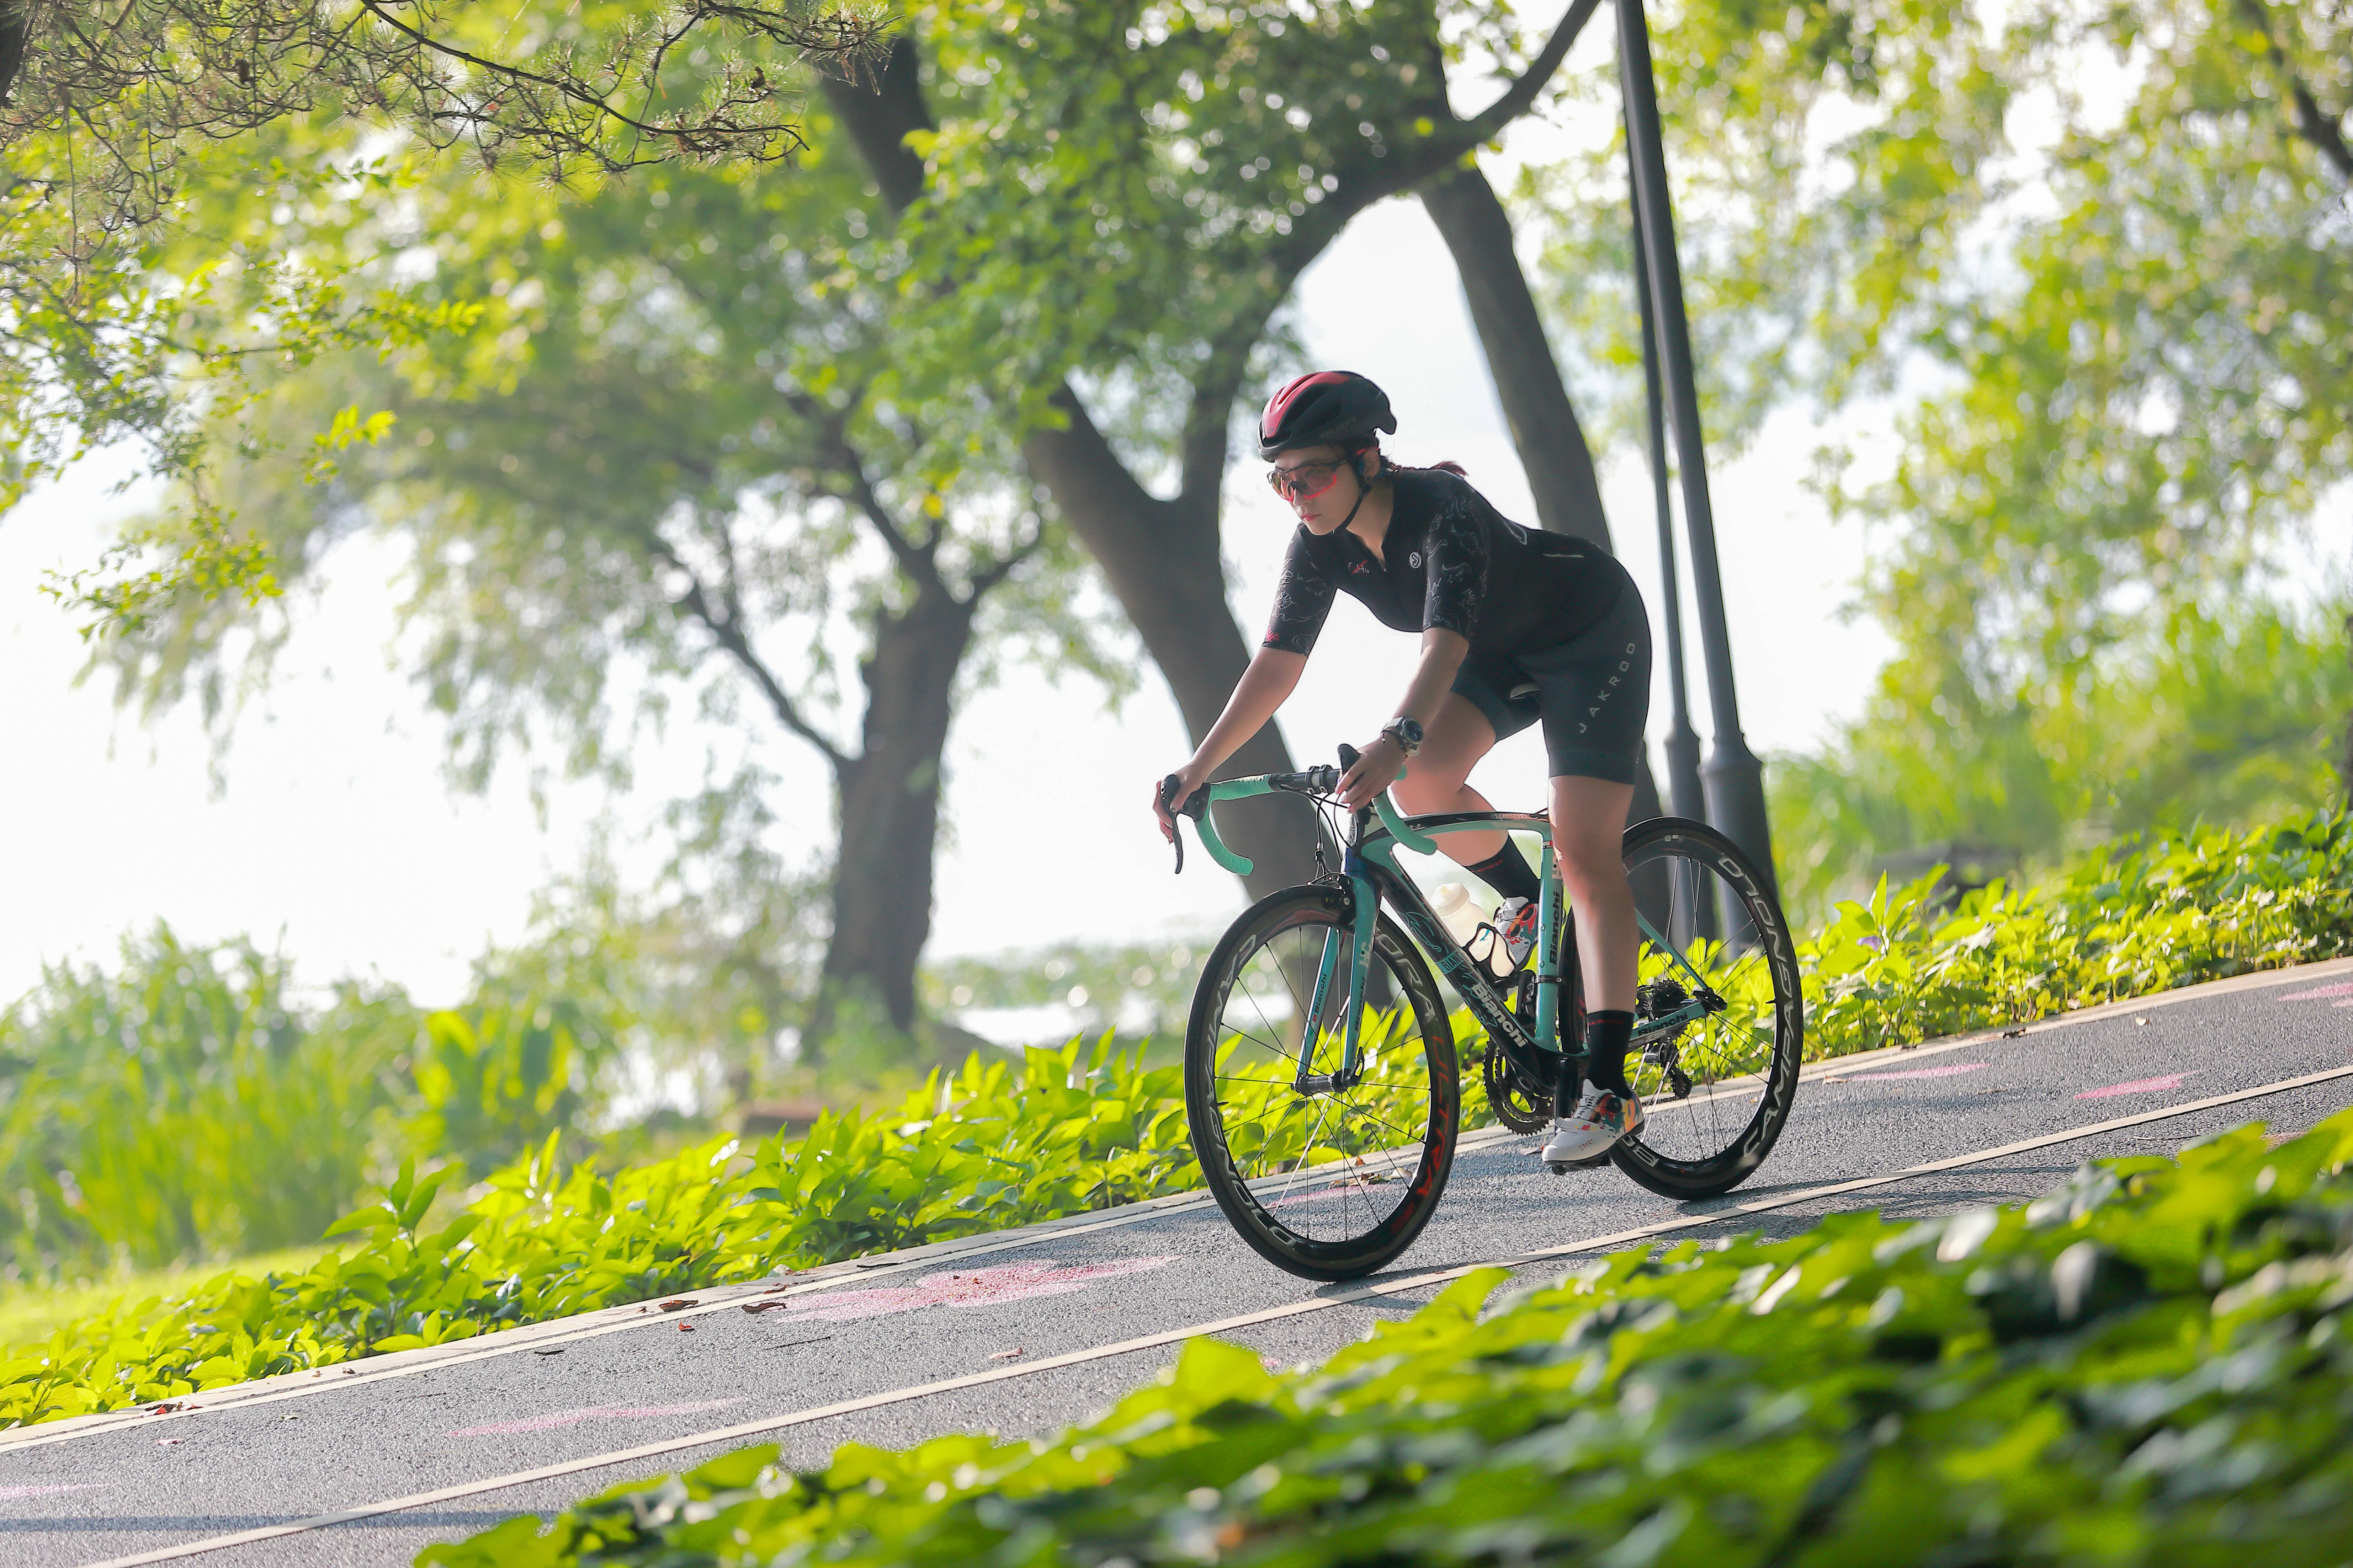
[[[400,1152],[487,1171],[574,1128],[628,1013],[534,957],[489,954],[440,1011],[306,1006],[285,959],[162,924],[113,973],[45,971],[0,1011],[0,1281],[306,1246]]]

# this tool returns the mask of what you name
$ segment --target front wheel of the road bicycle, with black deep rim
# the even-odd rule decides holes
[[[1374,959],[1400,997],[1395,1020],[1405,1023],[1409,1013],[1409,1034],[1374,1037],[1367,1027],[1365,1079],[1346,1091],[1299,1093],[1292,1081],[1280,1079],[1282,1072],[1315,1070],[1325,1058],[1337,1065],[1334,1025],[1346,1013],[1346,980],[1339,978],[1325,1016],[1306,1018],[1313,985],[1301,997],[1287,947],[1320,952],[1325,933],[1337,931],[1346,957],[1355,945],[1353,924],[1344,889],[1311,884],[1261,898],[1209,952],[1186,1025],[1186,1124],[1202,1180],[1242,1241],[1301,1279],[1358,1279],[1412,1246],[1445,1194],[1461,1128],[1459,1063],[1447,1011],[1421,952],[1386,914],[1374,929]],[[1285,943],[1287,936],[1299,940]],[[1257,997],[1249,983],[1266,973],[1275,973],[1289,990],[1306,1065],[1282,1048],[1285,1025],[1273,1023],[1264,1009],[1264,1034],[1247,1027],[1228,1032],[1228,1025],[1247,1023],[1231,1006],[1235,987]],[[1275,1067],[1275,1058],[1287,1067]],[[1224,1072],[1228,1065],[1259,1060],[1268,1077]],[[1318,1103],[1322,1110],[1311,1112]],[[1240,1119],[1238,1112],[1252,1107],[1261,1114]],[[1417,1114],[1419,1128],[1412,1126]],[[1299,1140],[1297,1152],[1289,1152],[1292,1138]],[[1384,1192],[1388,1187],[1395,1187],[1393,1206]]]

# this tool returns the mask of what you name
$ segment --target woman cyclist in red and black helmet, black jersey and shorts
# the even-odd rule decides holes
[[[1459,468],[1386,461],[1379,433],[1395,428],[1388,397],[1353,371],[1299,376],[1266,402],[1259,458],[1273,463],[1266,477],[1299,512],[1299,531],[1266,639],[1176,771],[1174,799],[1209,783],[1275,717],[1334,592],[1362,599],[1381,625],[1421,632],[1421,663],[1395,717],[1341,778],[1348,809],[1395,783],[1414,816],[1492,811],[1464,780],[1499,738],[1541,719],[1553,849],[1577,907],[1588,1009],[1584,1093],[1569,1100],[1574,1058],[1565,1058],[1544,1159],[1586,1159],[1642,1126],[1642,1103],[1626,1088],[1635,919],[1619,839],[1649,715],[1649,616],[1602,550],[1506,522]],[[1176,837],[1158,785],[1153,811],[1160,832]],[[1541,891],[1527,858],[1504,832],[1452,832],[1440,846],[1504,898],[1494,926],[1511,959],[1525,959]]]

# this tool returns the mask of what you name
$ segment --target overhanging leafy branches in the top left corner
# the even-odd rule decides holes
[[[779,162],[805,146],[800,68],[856,71],[887,26],[871,5],[711,0],[0,9],[0,510],[94,447],[129,447],[184,505],[54,592],[94,630],[179,595],[268,597],[268,552],[209,494],[202,414],[247,393],[254,360],[445,324],[407,320],[393,294],[351,299],[308,259],[219,254],[160,280],[191,160],[344,115],[558,181]]]

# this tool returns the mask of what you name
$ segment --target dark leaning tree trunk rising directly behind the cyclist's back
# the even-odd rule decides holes
[[[1438,223],[1454,254],[1454,270],[1461,273],[1471,324],[1487,355],[1511,444],[1537,494],[1537,522],[1546,534],[1574,534],[1607,550],[1609,520],[1602,515],[1593,451],[1569,404],[1569,388],[1560,381],[1560,362],[1544,336],[1544,317],[1520,270],[1520,254],[1511,244],[1511,214],[1478,165],[1461,165],[1424,186],[1421,207]]]

